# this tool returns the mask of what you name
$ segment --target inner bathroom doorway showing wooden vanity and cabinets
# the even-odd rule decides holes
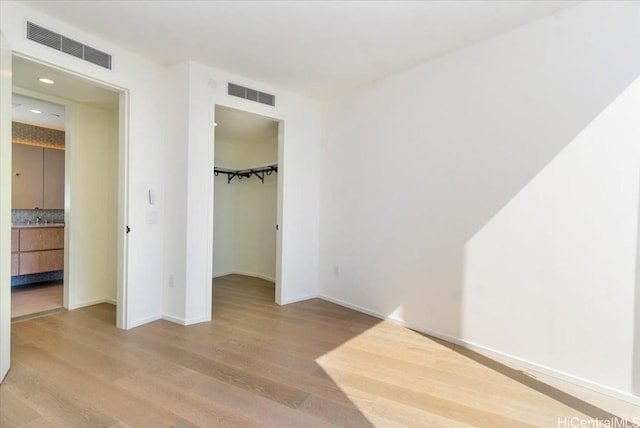
[[[63,105],[12,94],[11,319],[63,309]]]

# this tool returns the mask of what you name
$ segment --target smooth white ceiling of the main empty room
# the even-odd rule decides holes
[[[328,98],[577,1],[23,1],[162,64]],[[114,58],[114,61],[117,61]]]

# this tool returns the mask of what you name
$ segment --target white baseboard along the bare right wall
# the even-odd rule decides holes
[[[423,334],[426,334],[426,335],[429,335],[429,336],[433,336],[435,338],[444,340],[446,342],[453,343],[455,345],[459,345],[459,346],[461,346],[463,348],[466,348],[466,349],[469,349],[471,351],[476,351],[476,352],[481,353],[481,354],[483,354],[483,355],[485,355],[485,356],[487,356],[489,358],[495,358],[495,359],[498,359],[498,360],[502,360],[502,361],[508,362],[509,364],[513,364],[513,365],[519,366],[520,368],[525,368],[525,369],[528,369],[530,371],[535,371],[535,372],[538,372],[538,373],[541,373],[541,374],[545,374],[545,375],[548,375],[548,376],[551,376],[551,377],[554,377],[554,378],[557,378],[557,379],[572,383],[574,385],[578,385],[578,386],[581,386],[583,388],[587,388],[587,389],[590,389],[592,391],[595,391],[595,392],[598,392],[598,393],[601,393],[601,394],[604,394],[604,395],[608,395],[609,397],[613,397],[613,398],[617,398],[619,400],[627,401],[627,402],[629,402],[631,404],[634,404],[634,405],[640,405],[640,397],[635,396],[633,394],[629,394],[629,393],[627,393],[625,391],[620,391],[618,389],[611,388],[611,387],[608,387],[608,386],[605,386],[605,385],[599,384],[597,382],[593,382],[593,381],[590,381],[588,379],[584,379],[584,378],[581,378],[581,377],[578,377],[578,376],[575,376],[575,375],[571,375],[569,373],[565,373],[565,372],[553,369],[551,367],[547,367],[547,366],[544,366],[544,365],[541,365],[541,364],[533,363],[531,361],[528,361],[528,360],[525,360],[525,359],[522,359],[522,358],[519,358],[519,357],[515,357],[513,355],[509,355],[509,354],[506,354],[504,352],[496,351],[496,350],[487,348],[485,346],[478,345],[476,343],[472,343],[472,342],[466,341],[464,339],[460,339],[460,338],[457,338],[457,337],[449,336],[449,335],[446,335],[446,334],[441,334],[441,333],[438,333],[438,332],[435,332],[435,331],[426,330],[426,329],[423,329],[423,328],[415,328],[415,327],[412,327],[409,324],[407,324],[404,320],[401,320],[401,319],[398,319],[398,318],[394,318],[394,317],[391,317],[391,316],[388,316],[388,315],[383,315],[383,314],[380,314],[380,313],[378,313],[376,311],[372,311],[370,309],[367,309],[367,308],[364,308],[364,307],[361,307],[361,306],[358,306],[358,305],[353,305],[351,303],[342,301],[340,299],[335,299],[333,297],[325,296],[325,295],[322,295],[322,294],[319,295],[318,297],[323,299],[323,300],[326,300],[328,302],[335,303],[337,305],[344,306],[344,307],[347,307],[349,309],[353,309],[354,311],[362,312],[362,313],[365,313],[367,315],[371,315],[373,317],[376,317],[376,318],[379,318],[379,319],[382,319],[382,320],[385,320],[385,321],[389,321],[389,322],[392,322],[394,324],[401,325],[403,327],[410,328],[410,329],[415,330],[417,332],[420,332],[420,333],[423,333]]]

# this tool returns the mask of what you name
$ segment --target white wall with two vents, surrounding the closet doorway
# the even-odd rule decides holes
[[[113,69],[27,40],[27,20],[110,53]],[[210,318],[216,104],[285,121],[279,150],[281,168],[289,178],[278,176],[282,212],[277,239],[283,248],[283,268],[276,274],[277,300],[287,303],[317,294],[321,119],[317,102],[197,63],[164,69],[15,1],[0,2],[0,28],[16,54],[127,91],[121,114],[128,127],[120,132],[129,142],[123,171],[128,187],[119,195],[126,205],[120,222],[131,227],[123,266],[128,288],[118,307],[124,327],[163,316],[181,323]],[[277,106],[227,96],[229,80],[276,94]],[[175,97],[167,98],[168,94]],[[166,99],[179,107],[158,102]],[[148,204],[149,189],[157,195],[153,206]]]

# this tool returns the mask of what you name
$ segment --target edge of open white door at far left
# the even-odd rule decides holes
[[[11,359],[11,49],[0,32],[0,382]]]

